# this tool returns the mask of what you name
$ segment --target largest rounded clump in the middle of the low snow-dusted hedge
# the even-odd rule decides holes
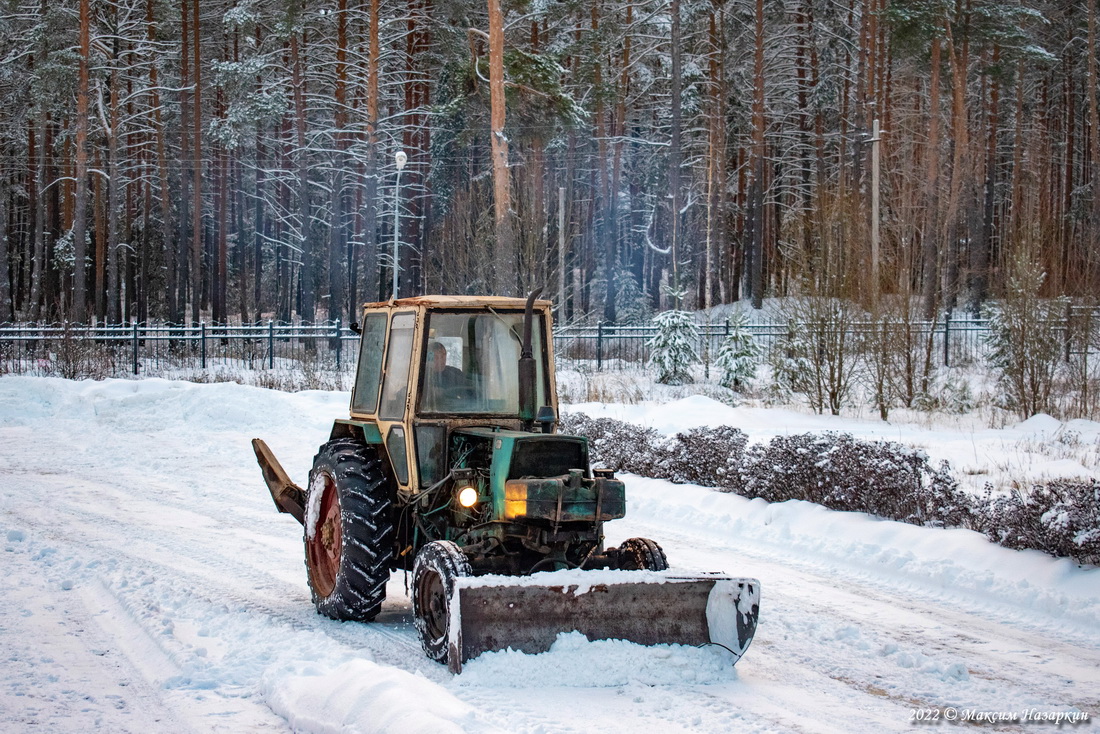
[[[769,502],[805,500],[914,525],[970,524],[967,495],[945,463],[921,451],[849,434],[777,436],[745,457],[744,494]]]

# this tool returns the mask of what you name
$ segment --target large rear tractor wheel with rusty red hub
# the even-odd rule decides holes
[[[333,620],[382,610],[394,554],[394,489],[377,452],[350,438],[323,443],[306,492],[306,569],[314,604]]]

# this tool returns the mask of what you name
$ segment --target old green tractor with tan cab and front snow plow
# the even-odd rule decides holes
[[[276,507],[305,528],[317,611],[369,622],[411,572],[420,644],[459,672],[558,634],[717,644],[740,658],[760,584],[668,570],[648,538],[604,545],[626,486],[588,441],[556,432],[551,304],[420,296],[366,304],[348,418],[302,489],[253,439]]]

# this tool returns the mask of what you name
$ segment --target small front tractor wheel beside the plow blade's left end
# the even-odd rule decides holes
[[[413,565],[413,621],[420,646],[432,660],[447,662],[454,580],[471,576],[465,554],[450,540],[433,540]]]

